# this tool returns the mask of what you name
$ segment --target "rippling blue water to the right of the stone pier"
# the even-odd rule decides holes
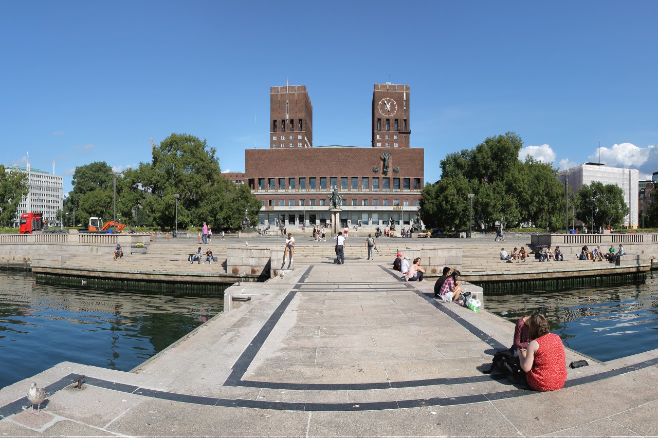
[[[612,360],[658,348],[658,276],[613,289],[487,297],[486,308],[511,322],[534,310],[544,313],[565,346],[597,360]]]

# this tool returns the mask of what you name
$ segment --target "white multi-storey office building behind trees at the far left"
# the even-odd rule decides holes
[[[18,227],[20,215],[27,212],[43,213],[50,226],[59,226],[60,218],[56,216],[57,210],[63,209],[64,178],[30,168],[30,163],[26,167],[5,166],[5,172],[20,172],[29,176],[30,193],[18,205],[14,226]]]

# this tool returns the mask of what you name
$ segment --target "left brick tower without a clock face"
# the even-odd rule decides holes
[[[270,149],[313,147],[313,105],[306,85],[270,88]]]

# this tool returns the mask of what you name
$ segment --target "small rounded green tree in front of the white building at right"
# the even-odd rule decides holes
[[[628,206],[624,201],[621,187],[615,184],[592,182],[584,184],[576,192],[574,208],[576,218],[591,226],[592,201],[594,200],[594,227],[619,226],[628,214]]]

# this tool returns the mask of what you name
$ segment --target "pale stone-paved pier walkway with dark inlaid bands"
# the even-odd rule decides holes
[[[658,351],[569,369],[536,393],[482,374],[513,324],[386,266],[318,263],[134,372],[65,362],[0,391],[0,433],[86,436],[658,435]],[[567,351],[567,362],[582,358]],[[82,389],[71,381],[84,375]],[[29,381],[39,416],[22,410]]]

